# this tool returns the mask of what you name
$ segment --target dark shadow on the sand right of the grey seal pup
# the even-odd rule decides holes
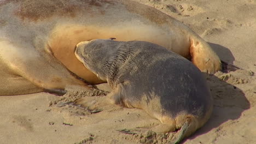
[[[241,89],[219,79],[215,75],[205,75],[214,100],[213,113],[202,128],[197,130],[194,135],[188,137],[190,140],[208,133],[208,131],[219,127],[229,120],[240,118],[242,112],[250,107],[250,103]]]

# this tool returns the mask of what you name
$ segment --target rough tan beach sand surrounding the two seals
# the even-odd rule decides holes
[[[138,2],[182,21],[223,61],[241,68],[206,75],[214,98],[212,117],[183,143],[256,143],[256,1]],[[109,91],[106,84],[98,87]],[[157,119],[142,110],[110,105],[106,94],[70,88],[63,97],[48,93],[0,97],[0,143],[166,143],[171,139],[171,134],[149,131],[160,124]]]

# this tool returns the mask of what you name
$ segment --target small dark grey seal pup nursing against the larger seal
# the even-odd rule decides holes
[[[174,143],[210,118],[213,100],[201,71],[162,46],[96,39],[79,43],[75,56],[108,82],[113,103],[143,109],[159,119],[158,132],[180,129]]]

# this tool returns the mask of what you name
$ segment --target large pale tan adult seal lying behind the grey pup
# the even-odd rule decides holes
[[[191,59],[202,71],[221,68],[219,57],[199,35],[147,5],[126,0],[2,0],[0,95],[104,82],[78,61],[74,47],[111,37],[159,44]]]

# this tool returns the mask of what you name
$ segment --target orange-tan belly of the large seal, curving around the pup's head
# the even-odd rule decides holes
[[[98,84],[104,81],[98,79],[90,70],[86,69],[74,55],[75,45],[80,41],[92,39],[117,38],[121,41],[144,40],[159,44],[165,47],[172,47],[176,44],[173,41],[170,44],[170,33],[165,33],[163,29],[154,28],[146,25],[132,26],[123,25],[121,27],[98,27],[82,25],[60,25],[51,31],[48,44],[56,57],[72,73],[84,79],[90,84]],[[184,51],[184,50],[183,50]],[[178,53],[188,53],[178,52]]]

